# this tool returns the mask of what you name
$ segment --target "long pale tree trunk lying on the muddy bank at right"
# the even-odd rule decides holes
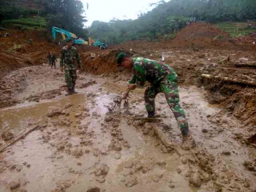
[[[214,76],[214,75],[210,75],[210,74],[201,74],[201,77],[207,78],[207,79],[216,79],[216,80],[223,81],[223,82],[230,82],[230,83],[235,83],[235,84],[241,84],[241,85],[248,85],[248,86],[256,87],[256,82],[255,81],[248,81],[248,80],[243,80],[243,79],[222,77],[222,76]]]

